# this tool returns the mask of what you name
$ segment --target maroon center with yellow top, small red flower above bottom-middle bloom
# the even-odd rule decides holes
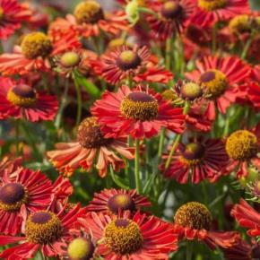
[[[119,209],[134,211],[134,201],[131,195],[118,194],[108,199],[108,208],[111,212],[117,213]]]

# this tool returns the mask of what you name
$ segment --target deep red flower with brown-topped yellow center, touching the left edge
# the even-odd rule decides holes
[[[58,103],[55,96],[10,78],[0,77],[0,84],[0,119],[14,117],[36,122],[56,117]]]

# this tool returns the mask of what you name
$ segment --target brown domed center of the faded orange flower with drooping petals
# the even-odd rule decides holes
[[[78,142],[84,148],[100,148],[111,143],[111,138],[104,138],[96,117],[85,118],[78,127]]]

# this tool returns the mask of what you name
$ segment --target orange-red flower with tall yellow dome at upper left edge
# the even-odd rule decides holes
[[[54,41],[43,32],[30,32],[20,46],[13,48],[13,53],[0,56],[0,72],[10,75],[48,71],[53,56],[80,47],[81,43],[73,33]]]

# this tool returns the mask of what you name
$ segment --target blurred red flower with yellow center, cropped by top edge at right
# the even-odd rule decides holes
[[[200,27],[212,26],[215,22],[228,21],[234,16],[249,13],[248,0],[195,0],[195,13],[190,22]]]

